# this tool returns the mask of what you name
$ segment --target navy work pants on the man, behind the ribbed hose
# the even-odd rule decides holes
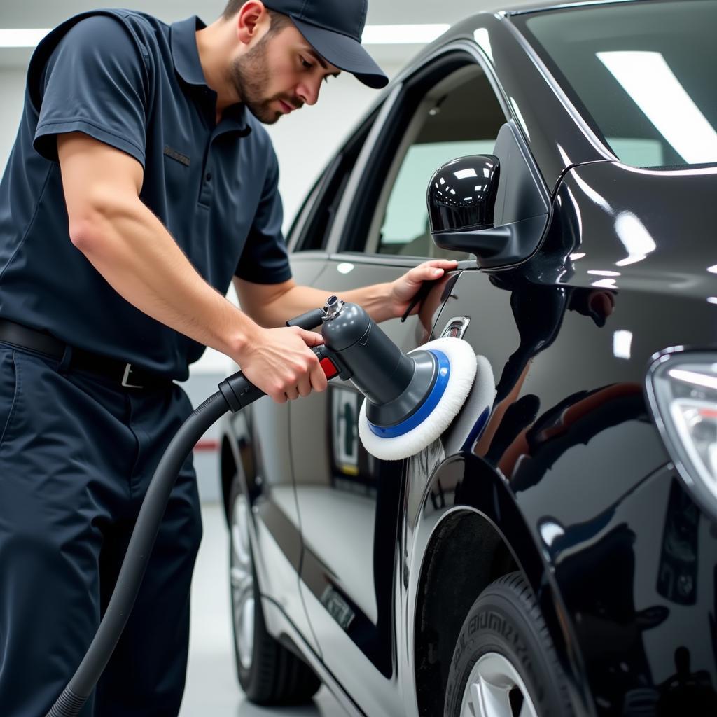
[[[0,714],[44,717],[95,635],[141,501],[191,412],[0,343]],[[125,632],[82,717],[174,717],[201,540],[184,464]]]

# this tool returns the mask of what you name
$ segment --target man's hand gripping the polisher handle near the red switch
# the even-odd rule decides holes
[[[259,328],[234,357],[244,376],[277,403],[326,391],[327,381],[312,346],[323,338],[298,326]]]

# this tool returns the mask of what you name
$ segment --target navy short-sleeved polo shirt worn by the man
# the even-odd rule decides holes
[[[142,201],[222,294],[233,275],[288,280],[274,149],[243,105],[217,125],[201,27],[111,10],[54,29],[30,62],[0,184],[0,317],[179,380],[204,346],[134,308],[70,242],[57,135],[79,131],[136,158]]]

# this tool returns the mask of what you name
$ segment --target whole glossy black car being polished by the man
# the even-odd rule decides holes
[[[295,279],[341,295],[457,257],[381,327],[468,341],[495,399],[398,462],[361,446],[348,382],[224,424],[252,700],[717,715],[716,29],[716,0],[483,12],[320,176]]]

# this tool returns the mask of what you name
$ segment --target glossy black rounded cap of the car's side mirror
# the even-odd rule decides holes
[[[431,233],[491,229],[499,179],[493,154],[459,157],[438,168],[426,193]]]

